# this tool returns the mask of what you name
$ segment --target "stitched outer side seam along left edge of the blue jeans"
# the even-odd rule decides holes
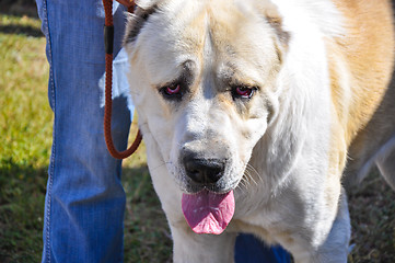
[[[55,81],[54,81],[54,69],[53,69],[53,49],[51,49],[51,42],[50,42],[50,32],[49,32],[49,22],[48,22],[48,5],[47,5],[47,0],[43,1],[43,11],[44,11],[44,26],[46,27],[46,32],[47,32],[47,56],[48,56],[48,62],[49,62],[49,80],[48,80],[48,89],[50,89],[48,92],[50,92],[50,104],[53,106],[53,111],[55,113]],[[56,123],[56,116],[54,118],[54,124]],[[50,165],[49,165],[49,170],[48,170],[48,190],[47,190],[47,209],[45,211],[46,214],[46,243],[44,245],[46,245],[46,258],[47,258],[47,262],[50,263],[51,262],[51,253],[50,253],[50,214],[51,214],[51,191],[53,191],[53,183],[54,183],[54,171],[55,171],[55,148],[56,148],[56,128],[54,125],[53,128],[53,146],[51,146],[51,152],[50,152]]]

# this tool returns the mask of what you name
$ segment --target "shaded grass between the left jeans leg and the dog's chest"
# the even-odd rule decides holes
[[[124,168],[126,192],[125,262],[172,262],[166,217],[147,167]]]

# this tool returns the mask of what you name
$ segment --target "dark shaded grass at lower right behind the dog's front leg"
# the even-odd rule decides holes
[[[395,192],[377,170],[348,190],[356,244],[349,263],[395,262]]]

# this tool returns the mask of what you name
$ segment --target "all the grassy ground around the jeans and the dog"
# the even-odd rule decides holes
[[[0,262],[39,262],[53,115],[39,21],[0,14]],[[170,262],[143,148],[124,163],[126,262]],[[352,263],[395,262],[395,194],[375,173],[349,194]]]

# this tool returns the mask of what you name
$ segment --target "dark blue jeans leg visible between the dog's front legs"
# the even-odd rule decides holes
[[[267,247],[252,235],[237,236],[234,248],[236,263],[290,263],[290,254],[281,247]]]

